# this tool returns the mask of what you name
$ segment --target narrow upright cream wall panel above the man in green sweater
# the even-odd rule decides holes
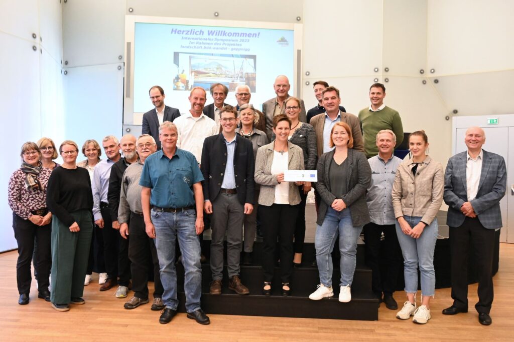
[[[427,0],[385,0],[384,76],[419,76],[427,65]]]

